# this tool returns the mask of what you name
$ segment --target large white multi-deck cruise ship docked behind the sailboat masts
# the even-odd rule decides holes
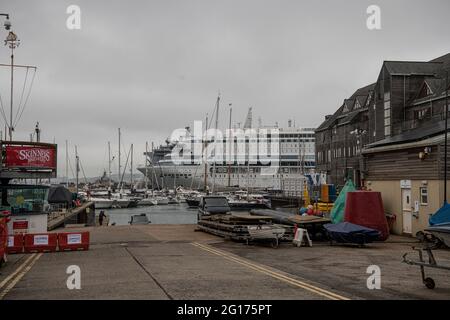
[[[251,115],[251,110],[249,114]],[[251,116],[250,124],[247,117],[243,129],[249,128]],[[314,173],[314,128],[298,128],[292,126],[292,121],[288,121],[286,128],[273,126],[252,129],[256,136],[246,136],[245,140],[238,142],[237,138],[228,141],[214,138],[196,140],[195,135],[186,128],[184,136],[174,139],[175,141],[167,140],[166,145],[148,152],[147,166],[138,170],[147,176],[148,184],[153,188],[172,189],[183,186],[203,189],[206,183],[212,191],[238,187],[282,191],[290,196],[302,195],[305,179],[311,179],[310,182],[314,184],[324,179]],[[224,133],[223,136],[226,137],[227,134]],[[223,146],[218,151],[211,152],[212,156],[206,157],[206,165],[204,153],[195,156],[192,152],[194,143],[203,145],[204,150],[205,140],[208,140],[208,146],[213,143]],[[249,147],[252,143],[258,144],[258,147]],[[184,154],[185,157],[180,160],[183,152],[186,153],[186,148],[180,145],[187,144],[191,144],[188,151],[191,156],[186,157]],[[271,150],[272,153],[267,152],[267,155],[261,156],[261,145],[268,146],[266,150]],[[214,158],[215,153],[219,156],[218,152],[222,156],[219,160]],[[250,159],[253,159],[250,163],[249,154]]]

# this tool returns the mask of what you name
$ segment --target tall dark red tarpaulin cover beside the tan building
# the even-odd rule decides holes
[[[344,220],[380,231],[382,241],[389,237],[389,226],[380,192],[348,192]]]

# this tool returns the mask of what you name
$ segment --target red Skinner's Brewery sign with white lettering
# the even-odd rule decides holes
[[[56,169],[56,150],[44,146],[6,146],[6,167]]]

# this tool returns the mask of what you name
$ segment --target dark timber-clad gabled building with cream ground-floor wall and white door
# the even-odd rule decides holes
[[[385,61],[377,81],[344,100],[316,130],[317,171],[338,187],[352,178],[380,191],[385,210],[396,215],[395,233],[427,227],[443,204],[449,71],[450,54]]]

